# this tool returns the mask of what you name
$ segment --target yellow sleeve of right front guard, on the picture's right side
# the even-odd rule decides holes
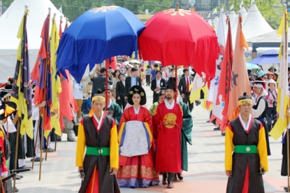
[[[261,124],[260,126],[259,143],[256,148],[260,157],[260,169],[261,169],[261,166],[263,166],[265,171],[268,171],[267,143],[266,143],[265,129],[263,127],[263,124]]]

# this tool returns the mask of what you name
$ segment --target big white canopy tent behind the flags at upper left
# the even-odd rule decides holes
[[[59,27],[60,16],[62,13],[52,4],[50,0],[15,0],[0,17],[0,83],[7,82],[8,76],[14,77],[17,48],[20,40],[17,32],[24,14],[24,6],[29,9],[27,17],[27,35],[29,44],[29,66],[30,71],[36,62],[38,50],[41,46],[41,30],[43,22],[48,15],[48,8],[51,8],[51,16],[56,13],[55,20]],[[64,30],[66,21],[62,19],[61,25]],[[51,20],[50,20],[51,21]],[[52,22],[50,22],[52,26]]]

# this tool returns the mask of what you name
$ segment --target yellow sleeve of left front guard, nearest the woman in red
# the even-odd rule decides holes
[[[110,131],[110,168],[119,168],[119,145],[117,139],[117,125],[113,121]]]

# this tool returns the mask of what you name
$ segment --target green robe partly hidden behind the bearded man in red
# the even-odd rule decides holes
[[[192,145],[191,141],[191,131],[194,126],[194,122],[192,122],[192,117],[190,110],[186,103],[178,101],[183,110],[183,120],[182,120],[182,132],[181,132],[181,156],[182,156],[182,171],[188,171],[188,156],[187,156],[187,143]]]

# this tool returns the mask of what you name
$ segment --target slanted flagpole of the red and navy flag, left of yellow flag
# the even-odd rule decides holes
[[[48,8],[48,29],[46,31],[47,33],[47,36],[46,36],[46,40],[45,40],[45,51],[48,52],[48,45],[49,45],[49,40],[50,40],[50,13],[51,13],[51,8]],[[50,59],[49,59],[49,56],[47,56],[45,58],[45,67],[44,67],[44,86],[46,87],[46,73],[47,71],[50,70],[50,68],[48,68],[48,65],[50,65]],[[47,90],[45,89],[45,87],[43,88],[44,92],[43,92],[43,99],[44,101],[46,101],[46,92]],[[46,103],[46,105],[48,105],[48,103]],[[43,107],[43,115],[45,115],[45,107]],[[43,127],[42,127],[42,130],[41,130],[41,162],[39,164],[39,178],[38,180],[41,180],[41,166],[42,166],[42,162],[43,162],[43,138],[44,138],[44,127],[45,127],[45,116],[43,116]],[[46,149],[48,149],[48,147],[46,147]]]

